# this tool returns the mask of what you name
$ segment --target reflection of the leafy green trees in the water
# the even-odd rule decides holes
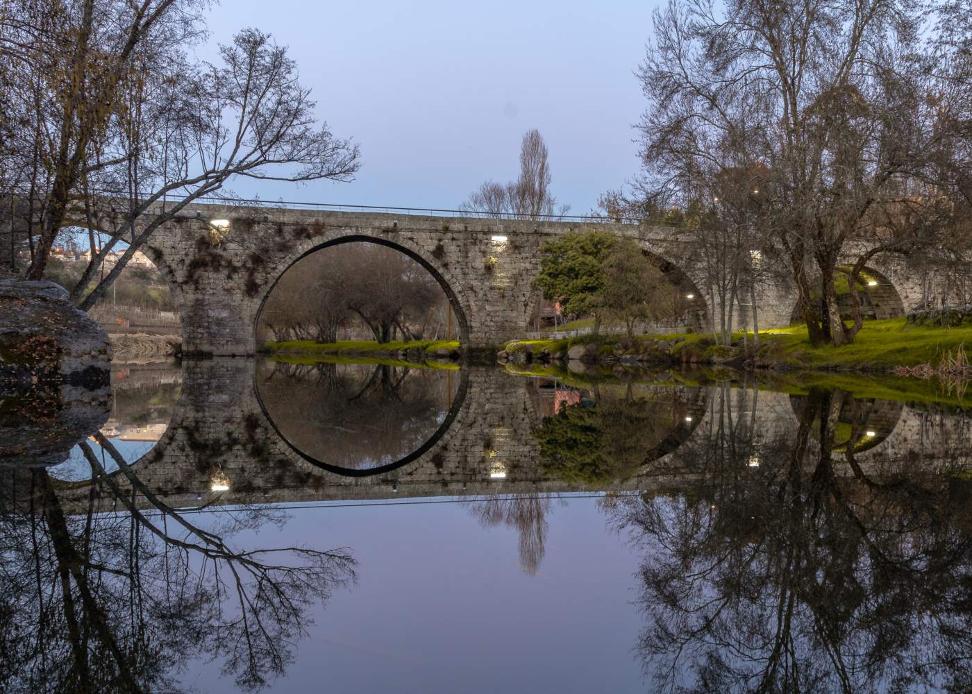
[[[662,451],[684,427],[687,405],[672,389],[635,395],[600,389],[596,402],[563,404],[534,430],[540,465],[560,479],[588,486],[622,480]]]

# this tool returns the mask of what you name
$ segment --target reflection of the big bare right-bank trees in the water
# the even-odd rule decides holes
[[[967,691],[968,432],[934,461],[865,465],[834,443],[841,419],[857,440],[865,404],[814,392],[768,437],[726,417],[678,451],[691,491],[605,501],[645,552],[638,650],[659,689]]]

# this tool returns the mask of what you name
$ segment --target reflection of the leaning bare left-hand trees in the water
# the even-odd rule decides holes
[[[228,537],[273,520],[260,508],[208,527],[156,498],[118,455],[105,473],[82,443],[92,478],[120,513],[98,512],[97,489],[66,501],[43,468],[0,514],[0,689],[30,692],[175,691],[195,658],[222,662],[259,689],[293,660],[311,604],[353,579],[344,549],[239,550]]]

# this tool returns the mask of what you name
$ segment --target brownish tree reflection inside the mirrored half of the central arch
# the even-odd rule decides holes
[[[372,468],[394,463],[434,434],[449,408],[446,385],[432,369],[278,363],[260,378],[260,397],[281,434],[304,454]]]

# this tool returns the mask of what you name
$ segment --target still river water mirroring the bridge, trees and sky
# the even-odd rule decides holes
[[[211,360],[7,394],[0,690],[970,691],[972,396],[903,388]]]

